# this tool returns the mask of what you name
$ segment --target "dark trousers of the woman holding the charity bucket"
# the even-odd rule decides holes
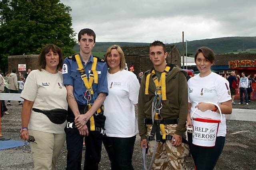
[[[206,148],[193,145],[192,133],[188,133],[188,143],[196,170],[213,170],[224,148],[225,137],[217,137],[215,147]]]

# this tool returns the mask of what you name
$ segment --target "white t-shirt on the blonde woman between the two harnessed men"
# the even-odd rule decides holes
[[[108,96],[104,101],[105,129],[108,137],[133,137],[138,133],[134,104],[140,84],[133,72],[120,70],[108,77]]]

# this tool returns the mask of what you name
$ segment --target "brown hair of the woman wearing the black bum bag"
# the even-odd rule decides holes
[[[58,53],[59,55],[59,64],[57,66],[57,70],[59,70],[60,68],[62,68],[62,64],[63,64],[63,55],[62,55],[62,49],[60,47],[58,47],[57,45],[54,45],[54,44],[48,44],[46,45],[40,55],[38,56],[38,59],[37,59],[37,69],[42,71],[42,69],[45,68],[46,66],[46,60],[45,60],[45,55],[50,51],[52,50],[54,53]]]

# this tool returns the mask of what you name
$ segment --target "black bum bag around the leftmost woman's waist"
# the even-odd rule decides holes
[[[33,111],[45,114],[52,123],[62,124],[66,121],[68,111],[65,109],[40,110],[32,108]]]

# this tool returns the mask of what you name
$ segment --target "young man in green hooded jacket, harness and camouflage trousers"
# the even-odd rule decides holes
[[[167,64],[167,55],[161,41],[150,44],[149,57],[154,68],[145,72],[138,100],[140,145],[142,149],[149,147],[153,157],[150,168],[184,170],[189,155],[183,138],[188,110],[187,73],[179,66]]]

